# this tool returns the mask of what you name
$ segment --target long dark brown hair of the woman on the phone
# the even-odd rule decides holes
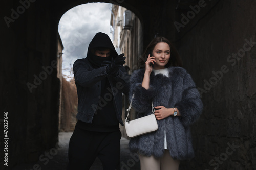
[[[148,57],[148,52],[152,53],[156,44],[159,42],[165,42],[170,47],[170,59],[169,59],[168,63],[165,65],[165,68],[170,67],[170,66],[182,67],[182,61],[181,61],[180,55],[179,55],[178,51],[176,50],[176,48],[174,47],[174,45],[172,43],[170,43],[170,41],[167,38],[156,37],[150,42],[150,44],[148,44],[142,57],[138,60],[138,68],[145,68],[145,62]]]

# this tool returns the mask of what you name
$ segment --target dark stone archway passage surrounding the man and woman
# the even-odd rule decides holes
[[[8,112],[10,168],[16,164],[37,161],[41,153],[55,147],[58,141],[60,81],[57,69],[52,65],[57,59],[58,22],[68,9],[87,2],[95,1],[10,0],[4,1],[0,7],[2,18],[5,18],[1,22],[0,109],[2,113]],[[207,5],[199,4],[202,2]],[[202,11],[194,16],[190,5],[193,9],[201,5]],[[208,168],[215,151],[225,151],[227,145],[223,143],[232,141],[242,146],[243,155],[248,156],[247,162],[253,162],[250,150],[255,149],[253,75],[256,21],[252,17],[255,16],[252,8],[255,2],[131,0],[123,1],[122,6],[140,18],[144,45],[157,35],[175,41],[185,68],[201,89],[205,86],[202,99],[207,107],[202,121],[193,129],[197,147],[195,162],[204,164],[204,169]],[[182,23],[182,14],[188,17],[185,14],[189,11],[192,11],[189,13],[189,23],[185,25],[186,22]],[[185,26],[182,34],[177,33],[174,21]],[[232,53],[237,58],[232,58]],[[225,65],[229,66],[229,71],[225,74],[222,71],[219,83],[207,88],[205,83]],[[52,67],[50,74],[44,70],[48,66]],[[44,71],[46,74],[42,73]],[[27,83],[34,85],[32,92]],[[220,134],[216,133],[214,125],[222,128]],[[3,142],[0,145],[3,148]],[[222,168],[235,163],[239,163],[238,167],[244,166],[239,154],[233,156],[236,159],[228,158]],[[196,164],[189,165],[186,169],[197,167]]]

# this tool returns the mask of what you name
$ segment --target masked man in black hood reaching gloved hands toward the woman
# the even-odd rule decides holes
[[[128,94],[130,79],[123,56],[109,36],[99,32],[89,44],[87,57],[73,65],[78,120],[69,143],[68,169],[90,169],[96,157],[103,169],[120,169],[122,93]]]

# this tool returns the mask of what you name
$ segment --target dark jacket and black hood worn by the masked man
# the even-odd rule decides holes
[[[97,36],[100,35],[100,36]],[[104,33],[97,33],[88,48],[88,56],[92,48],[105,47],[111,49],[111,57],[117,56],[117,52],[109,39]],[[78,95],[78,113],[76,118],[82,122],[92,123],[96,108],[100,108],[103,100],[101,96],[101,80],[107,78],[109,80],[112,93],[114,95],[114,108],[117,119],[123,125],[122,115],[122,92],[129,93],[130,76],[126,73],[123,66],[119,67],[119,75],[113,77],[106,73],[106,66],[95,67],[89,57],[78,59],[73,65],[74,77]],[[103,101],[104,102],[104,101]]]

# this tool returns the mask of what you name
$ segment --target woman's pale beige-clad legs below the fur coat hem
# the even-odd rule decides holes
[[[155,158],[154,156],[142,156],[140,155],[140,169],[141,170],[178,170],[179,160],[174,160],[169,150],[164,150],[164,154],[161,158]]]

